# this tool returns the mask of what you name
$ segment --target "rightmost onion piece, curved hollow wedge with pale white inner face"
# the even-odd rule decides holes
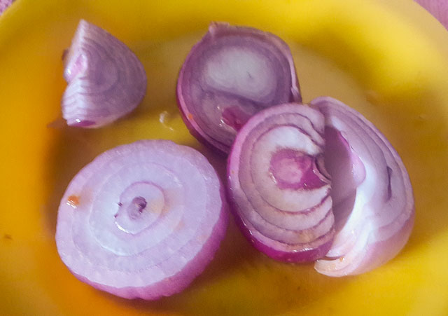
[[[356,275],[392,259],[414,224],[414,197],[400,156],[357,111],[330,97],[311,107],[325,116],[325,168],[332,177],[337,233],[319,273]]]

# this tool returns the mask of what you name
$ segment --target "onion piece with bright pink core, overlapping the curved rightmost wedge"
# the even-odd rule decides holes
[[[330,180],[323,167],[323,115],[302,104],[255,114],[228,158],[228,194],[253,245],[280,261],[314,261],[332,243]]]

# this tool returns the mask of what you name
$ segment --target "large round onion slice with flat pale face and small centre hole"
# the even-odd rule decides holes
[[[202,154],[144,140],[102,153],[73,178],[56,242],[80,280],[152,300],[181,291],[204,270],[227,222],[221,182]]]

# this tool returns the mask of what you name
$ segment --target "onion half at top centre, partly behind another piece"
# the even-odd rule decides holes
[[[186,57],[177,98],[190,132],[224,153],[253,114],[301,100],[286,43],[274,34],[226,23],[211,23]]]

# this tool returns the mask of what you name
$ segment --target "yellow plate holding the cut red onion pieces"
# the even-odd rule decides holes
[[[59,124],[61,56],[80,18],[127,43],[148,74],[137,111],[99,130]],[[59,198],[98,153],[166,138],[219,163],[188,134],[174,95],[183,58],[212,20],[281,36],[304,101],[342,99],[391,140],[416,200],[414,231],[395,259],[325,277],[267,259],[231,224],[203,275],[160,301],[104,294],[65,268],[54,240]],[[1,315],[448,314],[448,32],[411,0],[18,0],[0,18],[0,120]]]

